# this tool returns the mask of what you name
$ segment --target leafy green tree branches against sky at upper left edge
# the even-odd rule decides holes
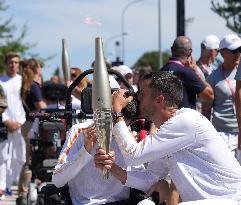
[[[3,13],[7,9],[8,6],[5,5],[5,0],[0,0],[0,16],[6,16]],[[0,73],[5,70],[5,55],[10,51],[17,52],[22,58],[26,56],[39,58],[38,55],[29,52],[30,48],[34,47],[35,44],[24,42],[27,34],[27,26],[22,26],[19,36],[15,37],[17,29],[12,23],[12,17],[9,17],[7,20],[0,17]],[[42,59],[42,61],[44,60]]]

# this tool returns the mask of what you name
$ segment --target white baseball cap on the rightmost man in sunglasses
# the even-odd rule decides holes
[[[235,34],[228,34],[220,41],[219,48],[227,48],[229,50],[236,50],[241,47],[241,39]]]

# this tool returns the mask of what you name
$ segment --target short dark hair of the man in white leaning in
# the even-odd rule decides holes
[[[143,80],[150,80],[153,97],[163,95],[167,106],[179,107],[183,98],[183,86],[181,80],[172,72],[153,72],[145,75]]]

